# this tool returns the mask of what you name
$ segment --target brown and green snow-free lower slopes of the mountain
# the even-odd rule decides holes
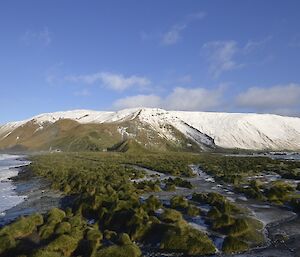
[[[42,125],[32,120],[1,140],[0,150],[105,151],[115,149],[115,146],[123,142],[127,142],[124,149],[131,150],[140,147],[159,151],[200,150],[199,145],[187,139],[173,126],[165,126],[168,126],[168,135],[172,135],[172,140],[153,130],[151,126],[141,123],[139,119],[101,124],[81,124],[74,120],[61,119]]]

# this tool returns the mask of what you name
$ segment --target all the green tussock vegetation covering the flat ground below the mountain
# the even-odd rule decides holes
[[[71,124],[72,125],[72,124]],[[126,150],[126,147],[129,147]],[[144,193],[176,187],[192,189],[190,165],[197,164],[216,178],[235,185],[246,196],[300,209],[296,188],[283,182],[249,180],[264,172],[294,174],[299,164],[268,158],[228,157],[218,154],[153,153],[137,155],[135,143],[116,146],[119,153],[55,153],[32,157],[29,169],[47,178],[54,189],[73,195],[70,208],[54,208],[45,215],[22,217],[0,230],[4,256],[141,256],[140,246],[188,255],[215,253],[213,242],[185,219],[201,215],[210,229],[226,236],[223,251],[241,252],[262,245],[262,224],[226,197],[195,193],[192,200],[174,196],[163,205]],[[160,181],[155,175],[143,180],[144,167],[174,176]],[[289,173],[289,170],[291,171]],[[295,171],[296,170],[296,171]],[[177,177],[181,176],[181,178]],[[292,175],[294,176],[294,175]],[[185,178],[184,178],[185,177]],[[139,180],[140,179],[140,180]],[[208,213],[201,211],[208,205]],[[199,207],[200,206],[200,207]],[[29,243],[30,242],[30,243]]]

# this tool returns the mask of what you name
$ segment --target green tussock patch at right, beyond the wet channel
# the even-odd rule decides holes
[[[199,155],[194,163],[199,163],[201,168],[217,181],[233,184],[237,192],[244,193],[248,198],[290,205],[293,208],[297,206],[295,202],[299,195],[293,194],[296,188],[280,180],[268,182],[264,175],[278,174],[282,178],[299,179],[300,162],[272,160],[268,157],[203,154]],[[256,175],[262,175],[262,178],[249,180],[249,177]]]

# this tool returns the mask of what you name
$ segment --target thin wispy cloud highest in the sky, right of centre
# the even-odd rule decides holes
[[[181,38],[182,31],[184,31],[191,22],[203,19],[205,16],[206,14],[204,12],[198,12],[187,15],[184,21],[173,25],[168,31],[166,31],[162,35],[161,43],[163,45],[176,44]]]

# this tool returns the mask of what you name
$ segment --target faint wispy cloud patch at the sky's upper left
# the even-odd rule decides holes
[[[49,29],[45,27],[41,31],[27,30],[21,37],[21,40],[26,45],[40,43],[43,46],[49,46],[52,42],[52,37]]]

